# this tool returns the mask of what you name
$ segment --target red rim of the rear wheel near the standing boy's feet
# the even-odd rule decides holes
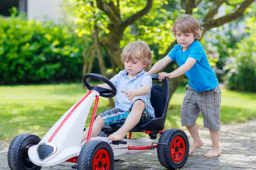
[[[174,137],[174,140],[171,142],[171,159],[174,162],[180,162],[185,155],[185,142],[182,137],[177,136]]]

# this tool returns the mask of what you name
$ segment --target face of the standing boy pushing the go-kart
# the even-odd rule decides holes
[[[176,32],[176,40],[179,45],[182,47],[182,51],[188,50],[190,45],[194,42],[196,39],[193,33],[181,33],[181,32]]]

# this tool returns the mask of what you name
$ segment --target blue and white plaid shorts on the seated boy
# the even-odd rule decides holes
[[[134,101],[135,102],[135,101]],[[133,104],[132,104],[133,106]],[[100,113],[99,115],[105,122],[105,125],[113,125],[113,124],[124,124],[127,116],[129,115],[130,111],[132,111],[132,106],[129,111],[122,111],[119,108],[111,108],[107,111]],[[142,113],[142,117],[139,120],[137,125],[144,125],[145,123],[151,120],[151,115],[149,115],[149,108],[145,103],[145,109]]]

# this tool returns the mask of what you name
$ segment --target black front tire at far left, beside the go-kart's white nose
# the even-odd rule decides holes
[[[39,170],[41,166],[33,164],[28,158],[28,149],[38,145],[41,139],[30,133],[22,133],[11,141],[7,159],[11,170]]]

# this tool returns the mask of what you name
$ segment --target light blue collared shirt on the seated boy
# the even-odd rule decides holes
[[[122,111],[129,111],[129,108],[131,108],[132,103],[134,103],[134,101],[136,101],[137,99],[141,99],[146,103],[147,107],[149,108],[149,114],[151,115],[151,117],[155,118],[154,108],[152,107],[150,102],[150,92],[144,96],[135,96],[132,100],[132,103],[128,100],[126,94],[122,93],[122,91],[131,91],[134,89],[138,89],[143,84],[149,84],[149,86],[151,87],[152,78],[150,74],[142,70],[142,72],[140,72],[136,77],[134,77],[134,79],[129,79],[127,77],[127,74],[127,70],[124,69],[110,79],[110,81],[117,88],[117,94],[114,98],[115,108],[119,108]]]

